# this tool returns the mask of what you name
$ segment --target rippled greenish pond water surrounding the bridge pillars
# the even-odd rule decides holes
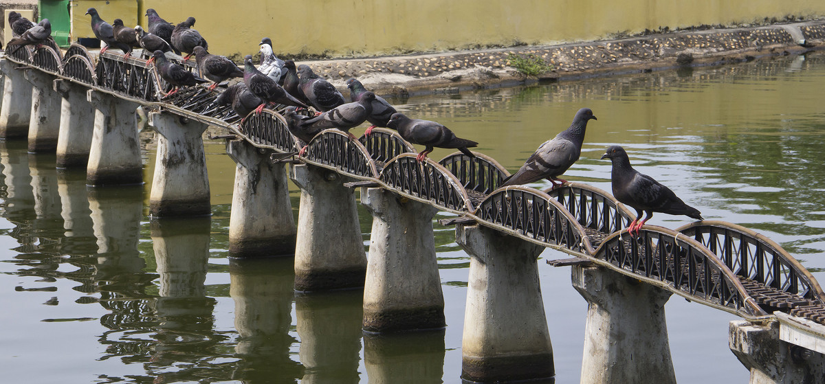
[[[705,218],[766,234],[825,281],[823,88],[825,56],[808,54],[390,102],[478,141],[511,171],[590,107],[598,120],[566,179],[610,190],[599,157],[620,144]],[[295,294],[291,259],[227,258],[234,164],[221,142],[206,151],[213,216],[150,221],[149,183],[87,188],[83,172],[55,170],[54,156],[0,143],[4,382],[460,382],[469,258],[452,227],[435,227],[446,330],[365,336],[361,291]],[[371,218],[360,215],[366,246]],[[568,268],[545,264],[564,257],[545,251],[539,263],[557,382],[571,383],[587,303]],[[681,297],[666,310],[679,382],[747,382],[728,349],[736,316]]]

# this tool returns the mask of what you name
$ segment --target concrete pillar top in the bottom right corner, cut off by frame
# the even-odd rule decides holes
[[[751,371],[751,384],[813,384],[825,380],[825,355],[780,340],[779,321],[731,321],[728,344]]]

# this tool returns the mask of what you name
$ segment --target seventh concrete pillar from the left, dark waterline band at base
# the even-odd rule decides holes
[[[356,198],[334,171],[292,166],[290,176],[301,189],[295,237],[295,289],[364,286],[366,256]]]

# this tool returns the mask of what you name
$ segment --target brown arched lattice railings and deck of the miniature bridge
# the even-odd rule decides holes
[[[156,112],[218,126],[228,131],[228,138],[242,138],[266,153],[269,162],[332,171],[349,181],[349,188],[363,188],[362,200],[368,189],[389,191],[395,199],[454,213],[456,218],[447,223],[486,227],[574,256],[551,264],[597,265],[750,320],[782,311],[825,324],[825,293],[812,274],[774,241],[745,227],[701,221],[676,230],[646,226],[639,236],[630,236],[622,228],[633,213],[603,190],[580,183],[546,192],[499,188],[509,173],[493,158],[475,153],[472,159],[456,152],[438,162],[416,162],[413,146],[389,129],[375,129],[358,141],[328,129],[309,143],[305,157],[285,160],[298,151],[299,143],[276,111],[251,114],[240,123],[242,116],[228,105],[216,105],[218,91],[187,87],[164,98],[169,87],[144,59],[125,60],[107,52],[94,63],[80,45],[64,55],[52,47],[26,47],[6,59],[18,66],[14,70],[35,69]],[[370,328],[367,322],[365,329]],[[464,372],[475,377],[471,366],[465,357]],[[477,371],[484,377],[483,367]]]

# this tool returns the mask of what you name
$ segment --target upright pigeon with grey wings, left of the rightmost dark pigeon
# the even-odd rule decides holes
[[[567,180],[559,179],[558,176],[567,171],[582,154],[584,132],[590,119],[596,120],[590,108],[578,110],[568,129],[542,143],[514,175],[504,179],[501,186],[522,185],[541,179],[550,180],[552,188],[566,183]],[[559,181],[558,185],[556,181]]]

